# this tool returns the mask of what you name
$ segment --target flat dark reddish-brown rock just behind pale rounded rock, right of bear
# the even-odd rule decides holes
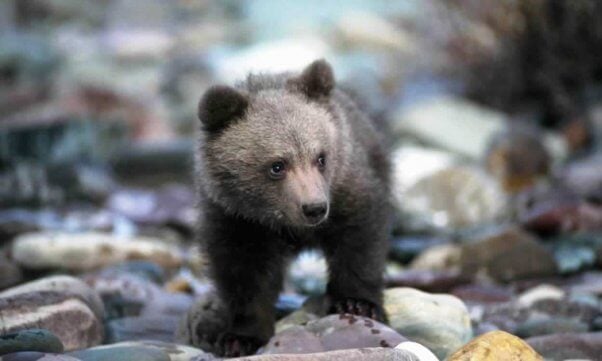
[[[457,271],[406,270],[385,277],[387,287],[411,287],[426,292],[449,292],[452,288],[470,282]]]

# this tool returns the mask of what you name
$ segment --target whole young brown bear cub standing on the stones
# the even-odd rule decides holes
[[[386,322],[389,163],[331,66],[213,86],[198,115],[199,239],[224,326],[197,336],[222,356],[254,353],[274,333],[287,261],[307,248],[328,262],[328,312]]]

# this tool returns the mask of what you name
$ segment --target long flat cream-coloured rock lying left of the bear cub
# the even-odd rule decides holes
[[[31,269],[85,271],[126,260],[148,260],[166,268],[182,264],[180,252],[159,240],[92,232],[24,234],[15,239],[12,256]]]

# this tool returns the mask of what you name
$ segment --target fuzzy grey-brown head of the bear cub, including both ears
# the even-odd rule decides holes
[[[203,186],[231,214],[274,227],[316,226],[328,217],[339,160],[334,75],[318,60],[279,81],[214,86],[202,97]]]

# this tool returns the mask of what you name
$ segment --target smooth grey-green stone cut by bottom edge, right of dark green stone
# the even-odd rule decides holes
[[[153,347],[108,345],[69,353],[82,361],[171,361],[167,353]]]

